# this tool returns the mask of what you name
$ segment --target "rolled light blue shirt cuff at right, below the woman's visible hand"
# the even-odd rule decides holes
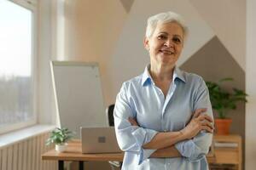
[[[200,161],[205,156],[191,139],[179,142],[175,144],[175,147],[182,156],[191,162]]]

